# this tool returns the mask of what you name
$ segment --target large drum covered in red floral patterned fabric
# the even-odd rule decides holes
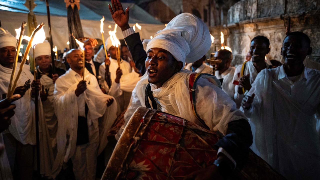
[[[144,107],[124,129],[105,169],[105,179],[183,179],[212,165],[220,136],[185,119]],[[252,151],[231,179],[284,179]]]

